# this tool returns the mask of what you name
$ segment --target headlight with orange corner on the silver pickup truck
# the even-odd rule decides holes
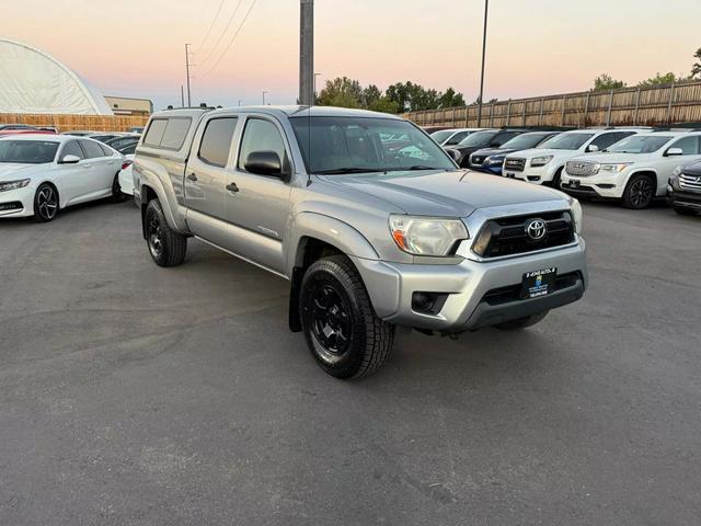
[[[449,255],[455,244],[470,235],[460,219],[390,216],[397,245],[414,255]]]

